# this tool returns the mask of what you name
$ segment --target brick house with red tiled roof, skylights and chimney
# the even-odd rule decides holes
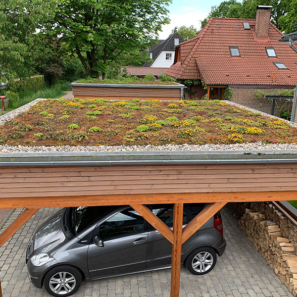
[[[231,101],[270,113],[271,101],[255,98],[255,91],[293,89],[297,81],[297,53],[278,41],[283,34],[270,22],[271,8],[258,5],[256,19],[211,18],[194,39],[176,47],[166,74],[200,81],[188,86],[194,98],[222,99],[232,88]]]

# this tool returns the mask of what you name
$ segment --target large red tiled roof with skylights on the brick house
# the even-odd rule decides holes
[[[250,30],[244,29],[243,22],[249,23]],[[283,34],[271,23],[268,39],[257,39],[254,28],[255,19],[211,18],[194,39],[180,45],[181,62],[166,74],[203,78],[207,85],[295,86],[297,53],[278,41]],[[239,47],[241,56],[231,56],[230,46]],[[265,48],[274,48],[277,57],[268,57]],[[289,69],[278,69],[273,62]]]

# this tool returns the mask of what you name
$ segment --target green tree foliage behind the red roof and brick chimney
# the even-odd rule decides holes
[[[227,0],[212,6],[208,16],[201,21],[203,27],[211,17],[251,18],[256,17],[257,5],[271,5],[271,22],[281,31],[297,31],[297,0]]]

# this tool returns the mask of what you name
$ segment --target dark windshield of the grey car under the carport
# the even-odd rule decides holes
[[[75,234],[84,231],[114,206],[80,206],[72,207],[72,228]]]

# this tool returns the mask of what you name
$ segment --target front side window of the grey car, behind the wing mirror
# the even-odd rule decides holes
[[[118,212],[99,227],[102,240],[115,239],[144,231],[144,219],[132,208]]]

